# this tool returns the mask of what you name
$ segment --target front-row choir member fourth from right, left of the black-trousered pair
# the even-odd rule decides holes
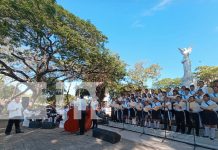
[[[164,128],[167,130],[167,125],[169,124],[169,130],[171,130],[171,120],[172,120],[172,103],[170,98],[164,97],[164,102],[162,103],[163,110],[163,119],[164,119]]]

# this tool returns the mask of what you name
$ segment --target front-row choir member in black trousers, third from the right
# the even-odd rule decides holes
[[[176,115],[176,132],[179,132],[181,129],[181,133],[185,133],[185,110],[186,103],[182,100],[182,97],[178,95],[176,97],[176,102],[173,104]]]

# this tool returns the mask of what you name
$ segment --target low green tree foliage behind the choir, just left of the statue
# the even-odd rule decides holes
[[[175,88],[176,86],[179,86],[181,82],[182,82],[181,78],[175,78],[175,79],[164,78],[155,82],[153,84],[153,87],[160,88],[160,89],[167,88],[167,87]]]

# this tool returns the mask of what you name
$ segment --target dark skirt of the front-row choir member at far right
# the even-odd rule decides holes
[[[217,113],[214,111],[203,111],[204,124],[205,125],[217,125]]]

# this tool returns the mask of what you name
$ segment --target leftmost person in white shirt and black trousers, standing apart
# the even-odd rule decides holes
[[[11,134],[13,124],[15,124],[16,133],[23,133],[20,130],[20,119],[22,118],[22,110],[23,110],[23,106],[20,103],[20,97],[16,97],[15,100],[11,101],[8,104],[7,110],[9,111],[9,120],[8,120],[7,128],[5,130],[5,134],[6,135]]]

